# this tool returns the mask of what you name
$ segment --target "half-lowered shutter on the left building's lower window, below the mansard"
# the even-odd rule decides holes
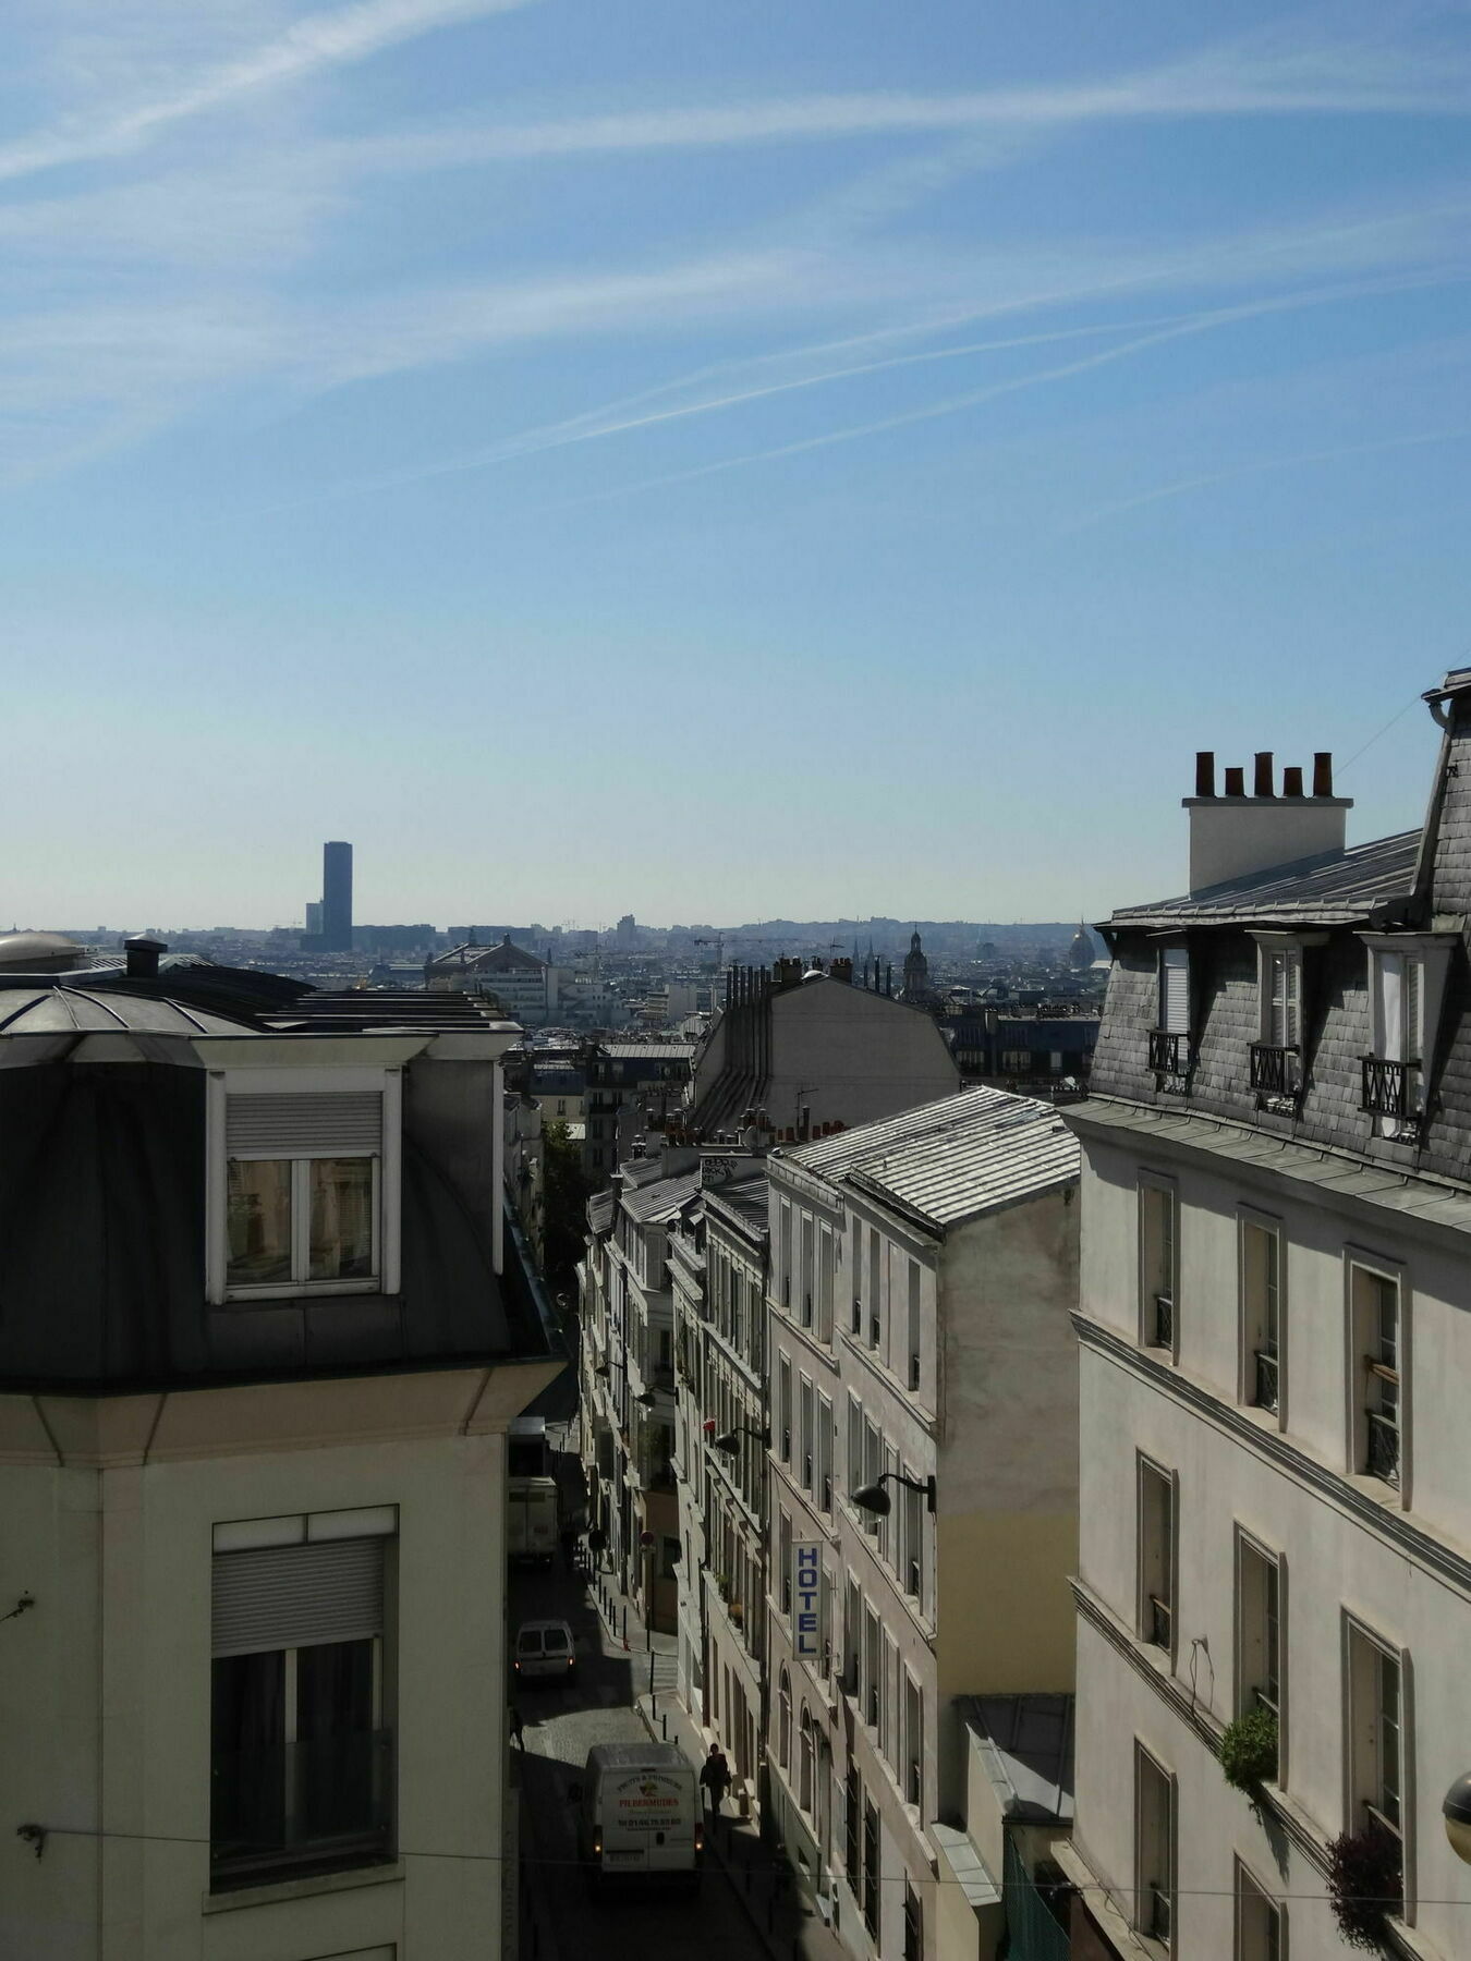
[[[216,1655],[382,1634],[382,1539],[214,1555]]]

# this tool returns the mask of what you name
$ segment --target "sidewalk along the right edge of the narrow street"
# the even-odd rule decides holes
[[[637,1608],[620,1592],[610,1573],[592,1577],[590,1594],[610,1643],[618,1647],[628,1643],[630,1657],[649,1657],[645,1667],[653,1669],[653,1692],[643,1686],[635,1696],[643,1728],[657,1743],[677,1743],[698,1769],[706,1759],[712,1735],[694,1724],[675,1694],[677,1637],[673,1634],[649,1635]],[[734,1816],[732,1798],[726,1798],[726,1810],[720,1818],[706,1814],[706,1857],[730,1875],[732,1886],[773,1961],[853,1961],[832,1928],[804,1904],[781,1849],[761,1843],[759,1822]]]

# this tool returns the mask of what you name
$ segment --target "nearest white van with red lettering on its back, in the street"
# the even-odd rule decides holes
[[[579,1788],[577,1839],[588,1885],[700,1885],[704,1818],[694,1765],[673,1743],[594,1743]]]

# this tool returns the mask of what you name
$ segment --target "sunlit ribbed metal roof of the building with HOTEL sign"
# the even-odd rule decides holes
[[[1051,1104],[975,1088],[783,1153],[943,1232],[1079,1177],[1077,1139]]]

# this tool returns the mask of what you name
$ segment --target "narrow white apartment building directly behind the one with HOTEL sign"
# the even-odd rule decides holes
[[[679,1694],[730,1757],[736,1802],[759,1800],[765,1735],[767,1179],[759,1155],[714,1155],[675,1237],[679,1383]]]

